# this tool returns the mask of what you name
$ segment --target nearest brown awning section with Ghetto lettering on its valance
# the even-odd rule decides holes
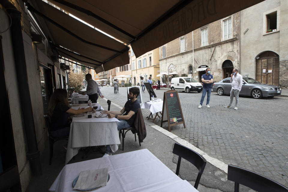
[[[50,1],[122,42],[131,42],[139,57],[263,0]]]

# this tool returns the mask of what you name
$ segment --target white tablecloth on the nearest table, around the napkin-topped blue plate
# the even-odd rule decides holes
[[[72,182],[81,171],[105,167],[109,169],[110,180],[97,192],[198,192],[190,183],[182,180],[166,167],[148,149],[67,164],[49,191],[74,192]]]

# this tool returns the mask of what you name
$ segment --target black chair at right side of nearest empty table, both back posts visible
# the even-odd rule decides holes
[[[180,164],[181,164],[181,158],[186,159],[190,163],[192,163],[198,170],[198,176],[194,184],[194,188],[198,188],[198,184],[200,181],[200,178],[202,176],[202,173],[204,171],[204,168],[206,166],[206,160],[197,152],[193,151],[192,149],[189,149],[185,146],[182,146],[178,143],[174,144],[173,148],[173,154],[178,155],[178,162],[177,162],[177,168],[176,168],[176,175],[179,176],[180,171]]]

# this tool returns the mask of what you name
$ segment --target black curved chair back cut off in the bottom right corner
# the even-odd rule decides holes
[[[239,192],[239,184],[245,185],[256,191],[261,192],[287,192],[288,188],[280,183],[273,181],[265,176],[262,176],[253,171],[237,167],[235,165],[228,165],[229,181],[235,182],[234,191]]]

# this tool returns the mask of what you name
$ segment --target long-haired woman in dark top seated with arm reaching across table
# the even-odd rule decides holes
[[[50,134],[53,137],[69,136],[70,122],[68,120],[70,115],[85,113],[91,111],[91,107],[79,108],[78,110],[71,109],[68,102],[68,94],[66,89],[56,89],[52,94],[49,105],[48,115],[51,118]]]

